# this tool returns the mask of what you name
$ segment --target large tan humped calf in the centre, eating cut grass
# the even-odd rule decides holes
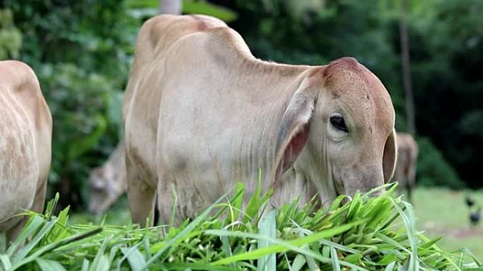
[[[196,215],[237,181],[250,195],[263,172],[275,206],[368,191],[395,166],[394,108],[354,58],[326,66],[260,61],[208,16],[144,23],[123,108],[133,222]],[[152,219],[150,221],[153,221]]]

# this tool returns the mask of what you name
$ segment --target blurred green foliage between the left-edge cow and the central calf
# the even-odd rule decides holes
[[[37,73],[54,118],[49,190],[81,207],[90,168],[119,140],[121,96],[141,21],[115,0],[6,0],[4,8],[0,33],[11,31],[4,14],[13,13],[22,38],[20,60]],[[15,51],[0,56],[18,58]]]

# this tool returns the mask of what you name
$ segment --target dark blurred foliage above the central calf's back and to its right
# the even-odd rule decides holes
[[[213,2],[239,13],[230,25],[255,56],[314,65],[354,56],[390,92],[396,130],[407,129],[400,64],[402,1]],[[483,152],[482,13],[481,0],[409,1],[416,125],[418,134],[427,137],[419,155],[428,162],[417,176],[424,184],[482,185],[477,175]]]

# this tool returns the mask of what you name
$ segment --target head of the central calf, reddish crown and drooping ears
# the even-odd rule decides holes
[[[396,157],[394,120],[386,88],[354,58],[315,68],[280,122],[274,182],[294,163],[323,199],[388,182]]]

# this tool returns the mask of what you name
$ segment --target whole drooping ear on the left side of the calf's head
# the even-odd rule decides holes
[[[309,139],[310,119],[315,106],[314,95],[299,87],[283,114],[275,144],[273,182],[288,170]]]

